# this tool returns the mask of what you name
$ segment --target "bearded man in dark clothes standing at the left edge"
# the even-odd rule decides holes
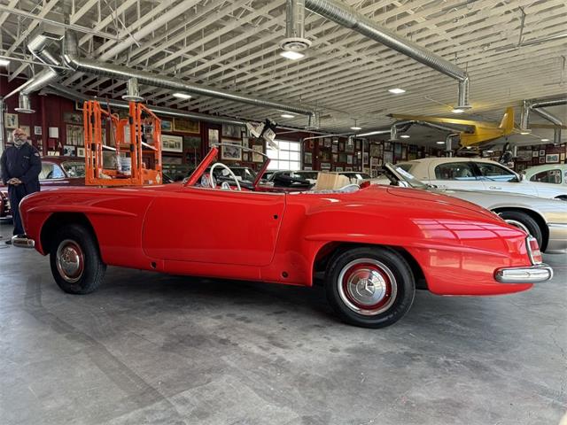
[[[34,146],[27,143],[27,135],[21,128],[12,132],[14,145],[6,148],[0,158],[2,181],[8,185],[8,197],[12,207],[14,235],[24,233],[19,217],[19,201],[26,195],[39,191],[38,176],[42,160]],[[6,241],[10,244],[12,241]]]

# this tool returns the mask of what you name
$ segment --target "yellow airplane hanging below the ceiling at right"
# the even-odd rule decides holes
[[[405,115],[392,113],[392,118],[397,120],[416,120],[426,122],[437,122],[444,124],[456,124],[474,128],[472,133],[462,131],[459,133],[461,145],[472,146],[479,143],[490,142],[499,137],[511,135],[514,133],[514,108],[506,108],[506,112],[502,117],[500,124],[494,122],[475,121],[475,120],[459,120],[456,118],[428,117],[423,115]]]

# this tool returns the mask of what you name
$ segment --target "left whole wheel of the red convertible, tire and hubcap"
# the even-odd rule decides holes
[[[88,294],[105,277],[106,265],[88,228],[69,224],[60,228],[50,250],[51,274],[59,288],[70,294]]]

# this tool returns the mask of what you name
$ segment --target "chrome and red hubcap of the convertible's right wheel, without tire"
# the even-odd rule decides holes
[[[353,312],[372,316],[390,308],[396,298],[396,279],[376,259],[355,259],[338,274],[338,295]]]

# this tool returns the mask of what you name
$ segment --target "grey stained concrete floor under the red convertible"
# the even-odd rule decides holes
[[[545,259],[555,279],[534,290],[420,291],[370,330],[338,322],[321,289],[111,267],[66,295],[47,258],[2,243],[0,422],[555,425],[567,270]]]

